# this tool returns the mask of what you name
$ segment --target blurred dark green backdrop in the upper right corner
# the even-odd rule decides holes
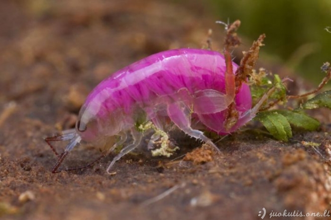
[[[256,39],[267,35],[262,53],[291,71],[318,83],[319,67],[330,62],[331,1],[217,1],[211,0],[213,13],[220,20],[240,19],[241,36]]]

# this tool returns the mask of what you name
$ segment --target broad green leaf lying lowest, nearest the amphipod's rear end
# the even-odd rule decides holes
[[[260,112],[255,118],[278,140],[287,141],[292,137],[292,129],[286,117],[274,111]]]

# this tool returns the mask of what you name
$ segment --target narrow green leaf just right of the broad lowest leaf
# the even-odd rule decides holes
[[[291,125],[297,128],[315,131],[320,125],[319,121],[304,114],[303,112],[289,110],[275,110],[275,112],[282,114]]]

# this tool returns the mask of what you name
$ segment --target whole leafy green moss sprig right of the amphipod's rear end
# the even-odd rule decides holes
[[[271,84],[271,81],[267,78],[266,74],[253,74],[253,76],[260,76],[252,77],[250,81],[251,84],[253,84],[251,86],[253,100],[258,100],[271,87],[277,88],[274,94],[270,97],[271,99],[274,99],[274,101],[266,103],[266,107],[262,108],[262,111],[257,114],[254,120],[260,121],[274,138],[283,141],[287,141],[292,137],[292,127],[301,128],[308,131],[318,129],[320,122],[308,116],[305,110],[322,107],[331,109],[331,90],[322,92],[313,98],[308,99],[295,109],[268,109],[275,106],[279,102],[282,102],[282,104],[285,105],[287,100],[290,98],[301,98],[319,91],[331,78],[330,64],[324,63],[321,70],[326,73],[326,76],[318,88],[312,92],[298,96],[286,95],[286,87],[283,84],[284,81],[281,81],[278,75],[274,75],[274,82]]]

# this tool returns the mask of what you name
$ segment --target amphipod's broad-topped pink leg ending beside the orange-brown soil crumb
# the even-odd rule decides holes
[[[216,145],[209,138],[204,136],[202,131],[194,130],[191,128],[190,112],[184,104],[170,104],[167,111],[171,121],[174,122],[187,135],[204,141],[206,144],[209,144],[210,146],[214,147],[218,152],[220,152]]]

